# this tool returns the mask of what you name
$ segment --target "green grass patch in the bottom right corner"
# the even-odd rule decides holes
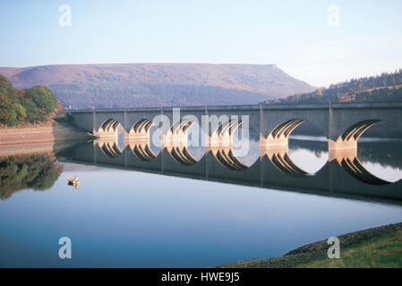
[[[402,267],[402,230],[340,248],[339,259],[323,258],[298,268],[400,268]]]

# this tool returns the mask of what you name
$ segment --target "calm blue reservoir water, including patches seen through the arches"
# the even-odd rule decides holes
[[[363,140],[359,159],[381,179],[398,181],[400,146]],[[295,137],[289,154],[314,173],[328,161],[326,147],[322,139]],[[242,160],[251,164],[256,154]],[[0,164],[0,266],[223,265],[402,221],[398,201],[332,198],[46,157],[25,158],[25,169],[13,158]],[[66,184],[74,175],[81,180],[78,189]],[[64,236],[73,243],[70,260],[58,257]]]

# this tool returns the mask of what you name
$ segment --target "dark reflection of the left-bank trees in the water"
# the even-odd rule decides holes
[[[63,172],[51,153],[0,158],[0,198],[10,198],[21,189],[45,190]]]

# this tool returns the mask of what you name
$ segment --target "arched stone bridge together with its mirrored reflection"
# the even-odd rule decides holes
[[[398,103],[186,107],[179,115],[172,108],[81,110],[72,115],[78,126],[99,138],[89,153],[90,162],[248,181],[260,186],[402,197],[401,181],[390,184],[376,178],[364,169],[356,153],[357,140],[373,124],[385,134],[402,131],[402,104]],[[160,121],[160,115],[168,123]],[[211,118],[218,123],[214,125]],[[260,160],[250,167],[234,155],[232,148],[232,134],[244,118],[260,130]],[[162,151],[158,155],[150,149],[150,128],[155,122],[168,124],[161,128]],[[194,122],[209,126],[204,134],[206,155],[200,161],[187,148],[187,131]],[[287,153],[289,135],[304,122],[311,122],[329,139],[329,163],[314,175],[295,165]],[[124,150],[116,143],[119,123],[124,128]]]

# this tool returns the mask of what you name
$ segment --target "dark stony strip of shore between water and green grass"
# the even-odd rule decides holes
[[[342,234],[338,236],[340,249],[355,247],[365,241],[397,231],[402,231],[402,223],[392,223],[364,231]],[[292,268],[326,258],[328,248],[327,240],[321,240],[290,250],[282,257],[243,260],[229,265],[210,266],[208,268]]]

